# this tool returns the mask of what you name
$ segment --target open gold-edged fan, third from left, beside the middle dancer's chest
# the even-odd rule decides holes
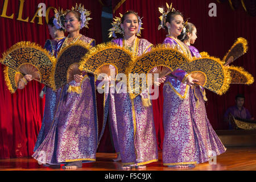
[[[96,76],[100,73],[110,75],[112,68],[116,74],[125,73],[132,61],[133,55],[127,49],[113,43],[100,44],[90,49],[82,59],[79,69]]]

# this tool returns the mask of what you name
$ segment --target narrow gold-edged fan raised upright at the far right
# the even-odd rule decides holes
[[[245,54],[247,49],[247,40],[244,38],[238,38],[223,58],[225,65],[229,65],[234,60],[238,59],[238,57]]]

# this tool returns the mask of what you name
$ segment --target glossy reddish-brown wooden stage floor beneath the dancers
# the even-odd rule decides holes
[[[35,159],[19,158],[0,160],[0,171],[118,171],[122,170],[121,162],[112,162],[115,154],[97,153],[97,162],[84,163],[79,169],[62,169],[61,166],[47,167],[39,165]],[[214,162],[212,160],[212,162]],[[131,169],[131,171],[256,171],[256,146],[228,147],[224,154],[217,156],[216,164],[202,163],[195,168],[168,168],[162,163],[162,152],[159,152],[159,162],[147,165],[146,169]]]

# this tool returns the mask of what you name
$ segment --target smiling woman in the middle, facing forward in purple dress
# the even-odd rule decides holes
[[[113,43],[129,49],[134,56],[150,51],[152,44],[136,36],[141,31],[141,19],[137,13],[127,11],[119,24],[123,36],[112,40]],[[148,93],[133,100],[127,93],[114,94],[118,146],[123,169],[133,166],[145,168],[145,164],[158,161],[152,106],[143,106],[143,98],[148,98]]]

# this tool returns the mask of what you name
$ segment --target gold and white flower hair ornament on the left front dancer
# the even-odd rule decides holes
[[[86,9],[84,8],[84,5],[81,5],[81,3],[79,4],[79,6],[77,6],[77,3],[76,3],[76,6],[75,6],[75,7],[72,7],[71,10],[72,10],[72,11],[78,11],[78,12],[81,14],[81,16],[80,16],[80,19],[81,19],[80,28],[81,28],[81,29],[84,28],[84,27],[89,28],[89,27],[88,27],[88,24],[89,24],[88,21],[92,19],[92,18],[89,17],[90,11],[86,10]],[[68,10],[68,12],[69,12],[69,11],[70,11],[70,10]]]

